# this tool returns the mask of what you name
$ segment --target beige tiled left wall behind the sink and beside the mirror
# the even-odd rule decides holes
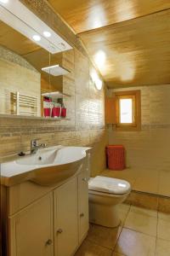
[[[69,120],[0,118],[0,156],[30,149],[32,138],[48,146],[92,146],[92,175],[105,168],[105,90],[97,90],[89,73],[88,58],[77,49],[64,54],[63,65],[71,73],[64,77],[63,90]]]

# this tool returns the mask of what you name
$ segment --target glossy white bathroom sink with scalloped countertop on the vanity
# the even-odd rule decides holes
[[[83,147],[51,147],[1,164],[1,182],[6,186],[31,181],[49,186],[64,181],[82,168]]]

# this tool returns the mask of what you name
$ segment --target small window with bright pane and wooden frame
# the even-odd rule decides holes
[[[116,96],[116,128],[139,131],[141,125],[140,90],[118,91]]]

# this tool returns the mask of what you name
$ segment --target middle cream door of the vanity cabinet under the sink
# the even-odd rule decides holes
[[[78,246],[77,177],[54,191],[54,256],[71,256]]]

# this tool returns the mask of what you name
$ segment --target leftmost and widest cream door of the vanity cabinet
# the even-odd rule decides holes
[[[8,218],[10,256],[53,256],[53,193]]]

